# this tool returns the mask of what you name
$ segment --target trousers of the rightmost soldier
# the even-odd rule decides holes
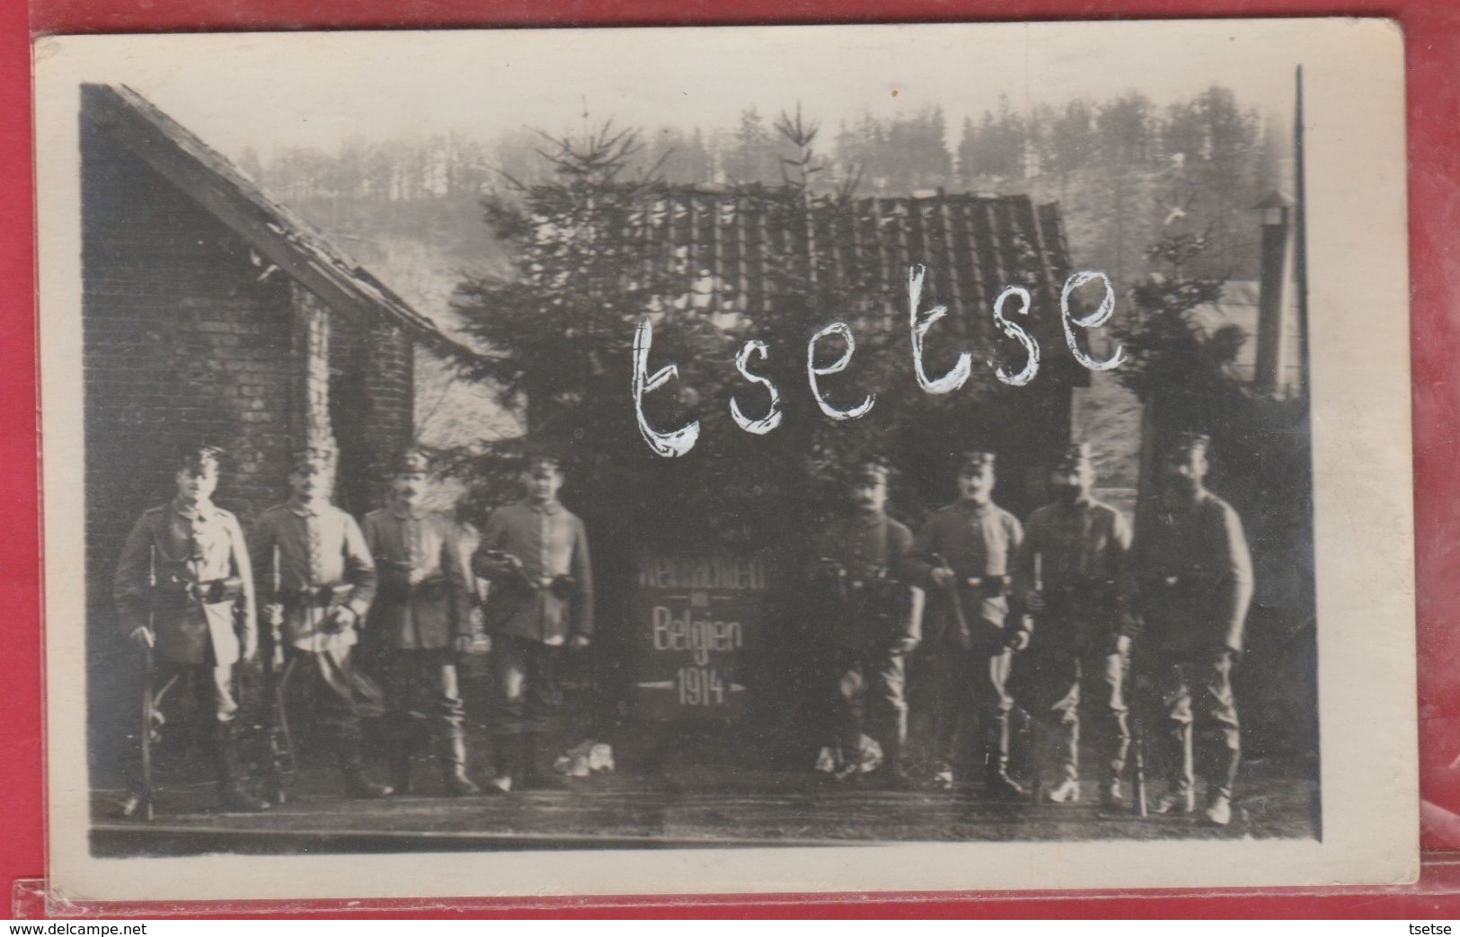
[[[1196,734],[1207,795],[1231,797],[1242,756],[1237,699],[1232,696],[1232,652],[1222,648],[1165,654],[1156,660],[1152,677],[1167,721],[1162,734],[1171,759],[1171,788],[1191,790],[1197,774],[1193,757]]]

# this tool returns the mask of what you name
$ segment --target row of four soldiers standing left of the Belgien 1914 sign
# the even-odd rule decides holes
[[[368,514],[362,527],[330,502],[333,450],[302,450],[289,473],[289,499],[260,514],[247,539],[238,520],[212,501],[222,458],[216,447],[180,454],[177,496],[142,515],[117,565],[123,633],[146,657],[123,813],[150,814],[150,741],[165,696],[187,686],[210,717],[201,734],[220,806],[258,811],[282,801],[277,776],[269,798],[254,795],[239,755],[234,671],[256,660],[272,724],[264,760],[274,775],[279,756],[292,757],[288,717],[292,698],[302,696],[333,749],[347,797],[409,794],[413,756],[428,740],[444,791],[477,794],[467,776],[457,673],[458,655],[473,642],[477,578],[492,584],[495,641],[496,771],[488,790],[558,782],[543,737],[561,699],[561,652],[587,647],[593,636],[593,574],[583,523],[558,501],[556,458],[527,461],[527,496],[492,514],[474,556],[454,521],[425,508],[429,461],[420,451],[402,455],[390,505]],[[378,683],[355,660],[362,631],[380,649]],[[365,772],[362,720],[372,717],[384,718],[388,784]]]

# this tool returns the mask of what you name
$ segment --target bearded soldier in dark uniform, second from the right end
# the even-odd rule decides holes
[[[1085,685],[1095,693],[1101,721],[1110,730],[1099,797],[1104,806],[1114,807],[1121,804],[1120,775],[1130,749],[1121,693],[1130,655],[1130,525],[1120,511],[1091,495],[1094,482],[1089,445],[1069,447],[1050,477],[1054,504],[1037,509],[1025,525],[1015,594],[1038,622],[1029,655],[1021,664],[1032,666],[1035,720],[1040,725],[1053,722],[1058,781],[1048,800],[1080,798],[1079,708]],[[1041,749],[1044,741],[1041,737]]]

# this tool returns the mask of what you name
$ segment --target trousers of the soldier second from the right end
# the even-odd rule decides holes
[[[1056,647],[1031,651],[1019,661],[1034,671],[1029,711],[1054,730],[1054,756],[1061,779],[1079,778],[1080,699],[1094,698],[1102,728],[1108,733],[1110,760],[1102,781],[1118,781],[1130,752],[1130,714],[1126,706],[1127,660],[1107,654],[1104,642],[1088,647]]]

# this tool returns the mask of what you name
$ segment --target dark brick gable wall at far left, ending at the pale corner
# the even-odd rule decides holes
[[[288,277],[85,121],[82,175],[88,579],[110,604],[177,445],[228,450],[216,498],[245,520],[283,496],[293,312]]]

